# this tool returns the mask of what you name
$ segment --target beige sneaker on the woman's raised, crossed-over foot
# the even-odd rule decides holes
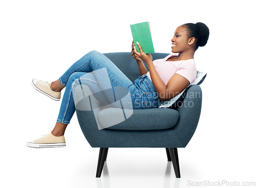
[[[51,88],[52,83],[53,82],[46,82],[36,78],[32,79],[32,86],[35,90],[39,91],[42,94],[47,95],[53,100],[60,100],[61,89],[59,91],[52,89]]]

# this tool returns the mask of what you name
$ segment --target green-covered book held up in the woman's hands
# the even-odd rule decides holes
[[[131,25],[133,40],[136,50],[140,52],[137,41],[140,43],[144,53],[154,53],[154,45],[151,36],[150,22],[142,22]]]

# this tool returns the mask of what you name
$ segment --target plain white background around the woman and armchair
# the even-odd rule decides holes
[[[255,182],[254,8],[249,0],[1,1],[0,186]],[[173,33],[183,23],[204,22],[210,30],[208,43],[195,54],[207,77],[198,128],[186,148],[178,149],[181,178],[173,167],[168,174],[164,148],[110,148],[109,175],[95,178],[99,149],[88,144],[76,115],[65,133],[66,148],[26,147],[52,130],[61,103],[36,92],[31,79],[56,80],[91,50],[131,51],[130,24],[143,21],[151,22],[156,52],[171,52]]]

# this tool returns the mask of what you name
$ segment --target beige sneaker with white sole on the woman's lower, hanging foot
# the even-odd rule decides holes
[[[50,132],[39,139],[28,142],[27,146],[32,148],[65,147],[66,142],[64,136],[55,137]]]

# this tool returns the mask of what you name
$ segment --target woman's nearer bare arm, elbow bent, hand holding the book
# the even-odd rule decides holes
[[[140,53],[138,53],[136,51],[136,48],[134,48],[135,54],[146,63],[148,69],[150,70],[153,86],[158,93],[158,97],[161,101],[174,98],[179,93],[181,93],[187,86],[189,86],[189,81],[185,77],[177,73],[175,73],[169,79],[167,85],[165,85],[153,65],[152,56],[150,55],[150,53],[145,54],[139,44],[138,46]]]

